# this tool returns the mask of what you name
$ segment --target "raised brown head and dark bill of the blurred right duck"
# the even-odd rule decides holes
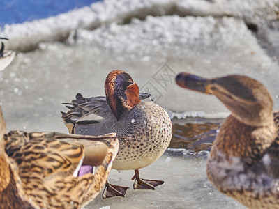
[[[176,83],[193,91],[216,95],[232,112],[232,116],[252,126],[273,123],[273,100],[264,85],[243,75],[228,75],[205,79],[182,72]]]

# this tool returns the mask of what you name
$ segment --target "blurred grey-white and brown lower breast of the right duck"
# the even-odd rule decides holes
[[[279,179],[269,175],[263,161],[245,161],[218,151],[209,157],[207,176],[220,192],[248,208],[278,208]]]

